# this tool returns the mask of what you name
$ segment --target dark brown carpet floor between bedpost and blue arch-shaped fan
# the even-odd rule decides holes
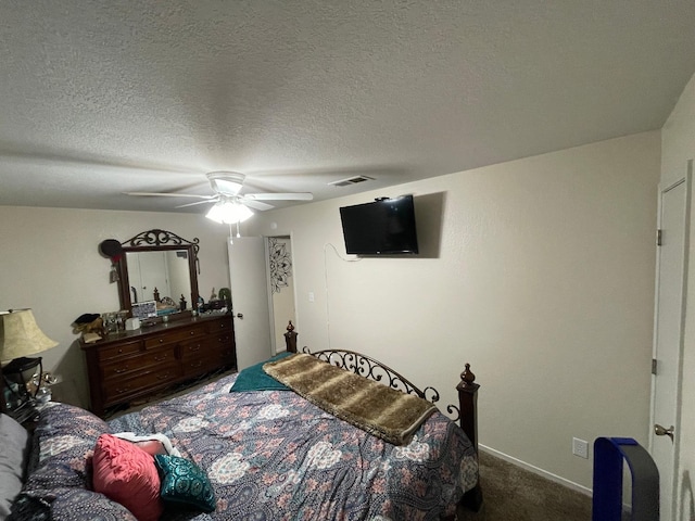
[[[458,521],[590,521],[591,497],[480,453],[480,511],[459,509]]]

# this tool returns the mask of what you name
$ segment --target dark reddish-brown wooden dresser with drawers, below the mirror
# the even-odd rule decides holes
[[[91,410],[127,404],[218,369],[237,366],[230,315],[186,318],[80,342]]]

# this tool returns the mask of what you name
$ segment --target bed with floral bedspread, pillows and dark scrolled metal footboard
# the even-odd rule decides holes
[[[306,359],[301,357],[341,374],[350,373],[361,382],[379,381],[379,387],[397,390],[399,395],[408,394],[429,403],[439,399],[434,389],[420,391],[377,360],[333,350],[311,356],[282,354],[267,364],[224,376],[109,421],[78,407],[50,404],[41,410],[28,455],[22,450],[22,436],[17,437],[16,432],[2,434],[4,446],[9,439],[16,445],[8,454],[18,455],[22,461],[0,460],[0,472],[10,468],[15,481],[25,475],[8,519],[453,520],[462,501],[468,501],[471,508],[480,505],[478,384],[468,365],[457,385],[459,404],[447,407],[450,414],[459,416],[462,427],[439,410],[429,411],[416,429],[394,444],[374,430],[356,427],[358,422],[353,418],[329,411],[326,404],[301,395],[302,391],[276,389],[273,383],[264,389],[263,382],[253,382],[261,374],[266,383],[292,389],[295,384],[288,385],[287,374],[285,380],[277,380],[268,371],[280,368],[291,372],[286,366],[293,359]],[[346,395],[354,383],[341,383],[340,389],[345,391],[337,394]],[[236,385],[240,389],[232,391]],[[8,417],[3,419],[0,430],[8,424]],[[121,448],[109,444],[135,447],[137,455],[131,456],[130,448],[118,453]],[[144,444],[150,445],[146,448]],[[131,460],[125,467],[137,467],[136,474],[149,473],[148,476],[137,475],[141,481],[125,485],[116,479],[112,484],[125,486],[118,490],[121,496],[103,491],[104,458],[113,469],[123,463],[123,458],[137,456],[140,461],[143,454],[149,459],[138,463],[140,467]],[[152,466],[152,460],[156,465]],[[24,461],[26,472],[22,468]],[[150,475],[151,467],[160,479],[156,483],[156,478]],[[98,480],[102,493],[97,492]],[[156,497],[131,496],[150,488]],[[140,511],[146,504],[151,504],[154,513],[152,509]],[[1,512],[0,503],[0,519]]]

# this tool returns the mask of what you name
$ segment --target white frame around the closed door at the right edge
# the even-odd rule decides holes
[[[691,219],[691,190],[692,190],[692,175],[693,175],[693,160],[687,161],[685,176],[680,177],[677,181],[673,181],[662,188],[659,183],[659,198],[657,206],[657,228],[661,227],[661,212],[662,212],[662,198],[664,193],[677,188],[678,186],[685,185],[685,215],[683,216],[683,272],[681,274],[681,317],[679,323],[679,348],[678,348],[678,361],[677,361],[677,399],[675,399],[675,418],[673,419],[674,434],[673,434],[673,469],[672,469],[672,486],[671,491],[671,513],[678,514],[678,497],[679,497],[679,470],[680,470],[680,449],[681,449],[681,410],[683,405],[683,356],[685,348],[685,322],[687,316],[687,271],[688,271],[688,253],[690,253],[690,219]],[[654,333],[652,344],[652,358],[657,359],[657,340],[658,340],[658,316],[659,316],[659,287],[660,287],[660,253],[658,246],[656,249],[656,278],[655,278],[655,295],[654,295]],[[658,364],[657,364],[658,372]],[[653,371],[650,378],[650,403],[649,403],[649,427],[648,427],[648,450],[654,453],[654,443],[656,435],[654,433],[654,424],[656,420],[656,377]],[[660,471],[660,469],[659,469]]]

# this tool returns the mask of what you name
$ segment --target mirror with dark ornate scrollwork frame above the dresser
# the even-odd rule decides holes
[[[156,302],[159,312],[186,310],[198,302],[199,240],[188,241],[166,230],[149,230],[122,242],[118,258],[121,308]]]

